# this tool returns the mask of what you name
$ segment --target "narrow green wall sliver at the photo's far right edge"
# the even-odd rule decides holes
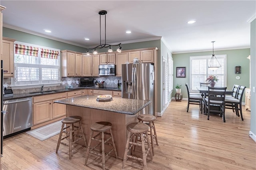
[[[252,87],[256,87],[256,19],[251,22],[251,128],[256,142],[256,93]]]

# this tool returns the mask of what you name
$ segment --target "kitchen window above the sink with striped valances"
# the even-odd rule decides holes
[[[60,50],[15,42],[12,86],[60,83]]]

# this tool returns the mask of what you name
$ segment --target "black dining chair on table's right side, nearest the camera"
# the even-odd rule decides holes
[[[242,114],[242,98],[245,90],[245,86],[239,86],[236,98],[226,97],[225,98],[225,105],[226,109],[235,109],[236,115],[239,117],[241,115],[242,121],[244,121],[243,114]],[[240,115],[239,115],[240,111]]]

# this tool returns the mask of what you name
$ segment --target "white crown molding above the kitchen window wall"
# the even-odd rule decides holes
[[[17,30],[17,31],[25,32],[25,33],[32,34],[32,35],[35,35],[35,36],[40,36],[40,37],[43,37],[43,38],[48,38],[48,39],[51,39],[51,40],[56,40],[56,41],[63,42],[63,43],[68,43],[68,44],[71,44],[71,45],[76,45],[76,46],[78,46],[78,47],[84,47],[84,48],[86,48],[86,47],[85,47],[84,45],[82,45],[82,44],[78,44],[78,43],[74,43],[74,42],[62,40],[62,39],[59,39],[59,38],[54,38],[54,37],[51,37],[51,36],[46,36],[46,35],[44,35],[44,34],[40,34],[40,33],[37,33],[37,32],[25,30],[25,29],[18,28],[18,27],[15,27],[15,26],[10,26],[10,25],[7,25],[7,24],[3,24],[3,27],[5,27],[5,28],[10,28],[10,29],[12,29],[12,30]]]

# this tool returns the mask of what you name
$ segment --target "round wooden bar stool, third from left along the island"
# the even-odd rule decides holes
[[[128,138],[127,138],[126,146],[125,146],[122,169],[124,169],[124,164],[128,158],[133,158],[135,160],[143,161],[143,166],[144,166],[144,168],[146,168],[147,167],[146,157],[148,155],[148,152],[150,152],[151,160],[153,160],[153,155],[152,155],[151,146],[150,146],[150,140],[148,137],[148,125],[141,123],[141,122],[130,123],[129,125],[127,125],[127,130],[128,130]],[[146,136],[144,136],[144,134],[146,134]],[[140,136],[140,140],[137,140],[138,136]],[[136,140],[134,139],[134,137],[136,137]],[[148,143],[147,150],[145,149],[145,142]],[[131,144],[131,145],[129,146],[129,144]],[[131,150],[132,154],[133,154],[134,146],[142,147],[142,158],[143,159],[138,158],[136,156],[127,155],[129,150]]]

